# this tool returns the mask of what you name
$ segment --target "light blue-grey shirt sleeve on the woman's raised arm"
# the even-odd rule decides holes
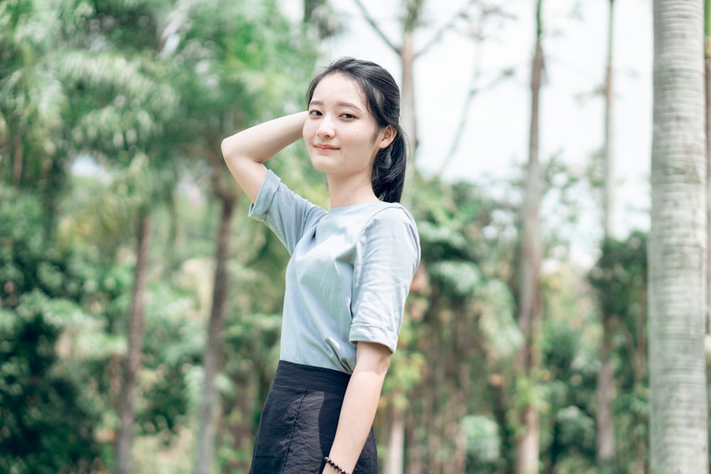
[[[305,230],[325,214],[324,208],[294,193],[271,170],[249,211],[250,217],[267,224],[290,254]]]

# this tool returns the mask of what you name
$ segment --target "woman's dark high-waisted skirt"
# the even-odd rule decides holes
[[[280,360],[262,410],[250,474],[321,474],[350,379],[337,370]],[[353,474],[377,473],[371,428]]]

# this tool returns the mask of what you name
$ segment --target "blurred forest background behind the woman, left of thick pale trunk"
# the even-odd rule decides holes
[[[615,153],[615,136],[633,119],[649,136],[651,114],[616,116],[613,78],[651,77],[614,67],[619,2],[599,2],[600,60],[573,62],[572,83],[555,45],[586,24],[582,2],[434,3],[0,2],[0,471],[247,472],[288,255],[247,218],[220,141],[304,108],[343,54],[392,70],[414,146],[422,266],[375,421],[383,471],[649,471],[648,200],[611,216],[637,179],[615,156],[650,153]],[[486,54],[512,29],[530,38],[510,61]],[[454,43],[462,68],[428,83],[419,64]],[[540,146],[560,123],[537,99],[557,95],[577,103],[558,119],[586,128]],[[424,131],[437,122],[448,136]],[[518,151],[467,141],[493,129]],[[464,176],[462,159],[503,173]],[[327,203],[303,144],[269,165]]]

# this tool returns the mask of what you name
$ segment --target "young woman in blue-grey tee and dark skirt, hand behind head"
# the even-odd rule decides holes
[[[281,352],[250,473],[377,473],[373,419],[419,264],[399,204],[407,163],[400,91],[379,65],[343,58],[320,72],[308,110],[222,144],[250,216],[287,247]],[[328,181],[324,210],[264,161],[303,137]]]

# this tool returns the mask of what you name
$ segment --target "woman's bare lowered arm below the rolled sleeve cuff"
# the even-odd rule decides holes
[[[333,439],[331,458],[341,468],[352,473],[363,451],[365,440],[373,426],[378,409],[380,391],[387,368],[390,367],[390,349],[382,344],[358,342],[355,353],[355,368],[343,397],[341,417],[338,419],[336,438]],[[324,474],[338,473],[326,465]]]

